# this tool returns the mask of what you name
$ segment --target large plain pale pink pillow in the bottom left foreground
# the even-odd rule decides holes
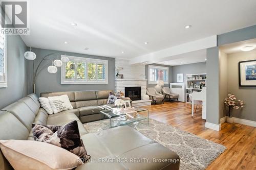
[[[0,140],[0,148],[12,167],[19,170],[68,170],[83,164],[75,154],[45,142]]]

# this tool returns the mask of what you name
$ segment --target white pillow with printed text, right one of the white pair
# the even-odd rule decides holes
[[[48,97],[53,113],[58,113],[63,110],[68,110],[62,96]]]

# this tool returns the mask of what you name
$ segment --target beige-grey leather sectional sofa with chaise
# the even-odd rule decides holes
[[[82,123],[98,120],[101,108],[97,107],[106,103],[108,93],[108,90],[42,93],[41,96],[69,95],[74,109],[52,115],[40,107],[35,94],[30,94],[0,110],[0,139],[33,140],[32,123],[62,126],[77,120],[81,138],[92,161],[76,169],[179,169],[179,162],[172,161],[179,160],[175,152],[129,126],[88,133]],[[102,158],[119,161],[100,163]],[[144,163],[136,160],[144,160]],[[0,169],[13,169],[2,152]]]

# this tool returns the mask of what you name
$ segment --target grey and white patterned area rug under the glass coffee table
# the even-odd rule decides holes
[[[87,123],[84,124],[84,127],[89,133],[102,131],[109,129],[105,124],[107,121],[110,120],[105,119]],[[200,138],[197,135],[163,124],[154,119],[149,120],[149,126],[138,122],[129,126],[176,152],[180,157],[181,170],[205,169],[226,150],[226,147],[221,144]]]

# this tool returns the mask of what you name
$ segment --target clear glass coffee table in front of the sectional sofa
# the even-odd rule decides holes
[[[134,113],[120,113],[113,111],[113,108],[104,106],[105,110],[100,111],[101,114],[108,117],[110,121],[106,121],[106,124],[110,128],[114,128],[117,126],[127,125],[134,122],[139,122],[142,124],[148,125],[148,110],[140,107],[135,108]],[[142,113],[145,113],[142,115]],[[100,120],[103,119],[102,115],[100,115]]]

